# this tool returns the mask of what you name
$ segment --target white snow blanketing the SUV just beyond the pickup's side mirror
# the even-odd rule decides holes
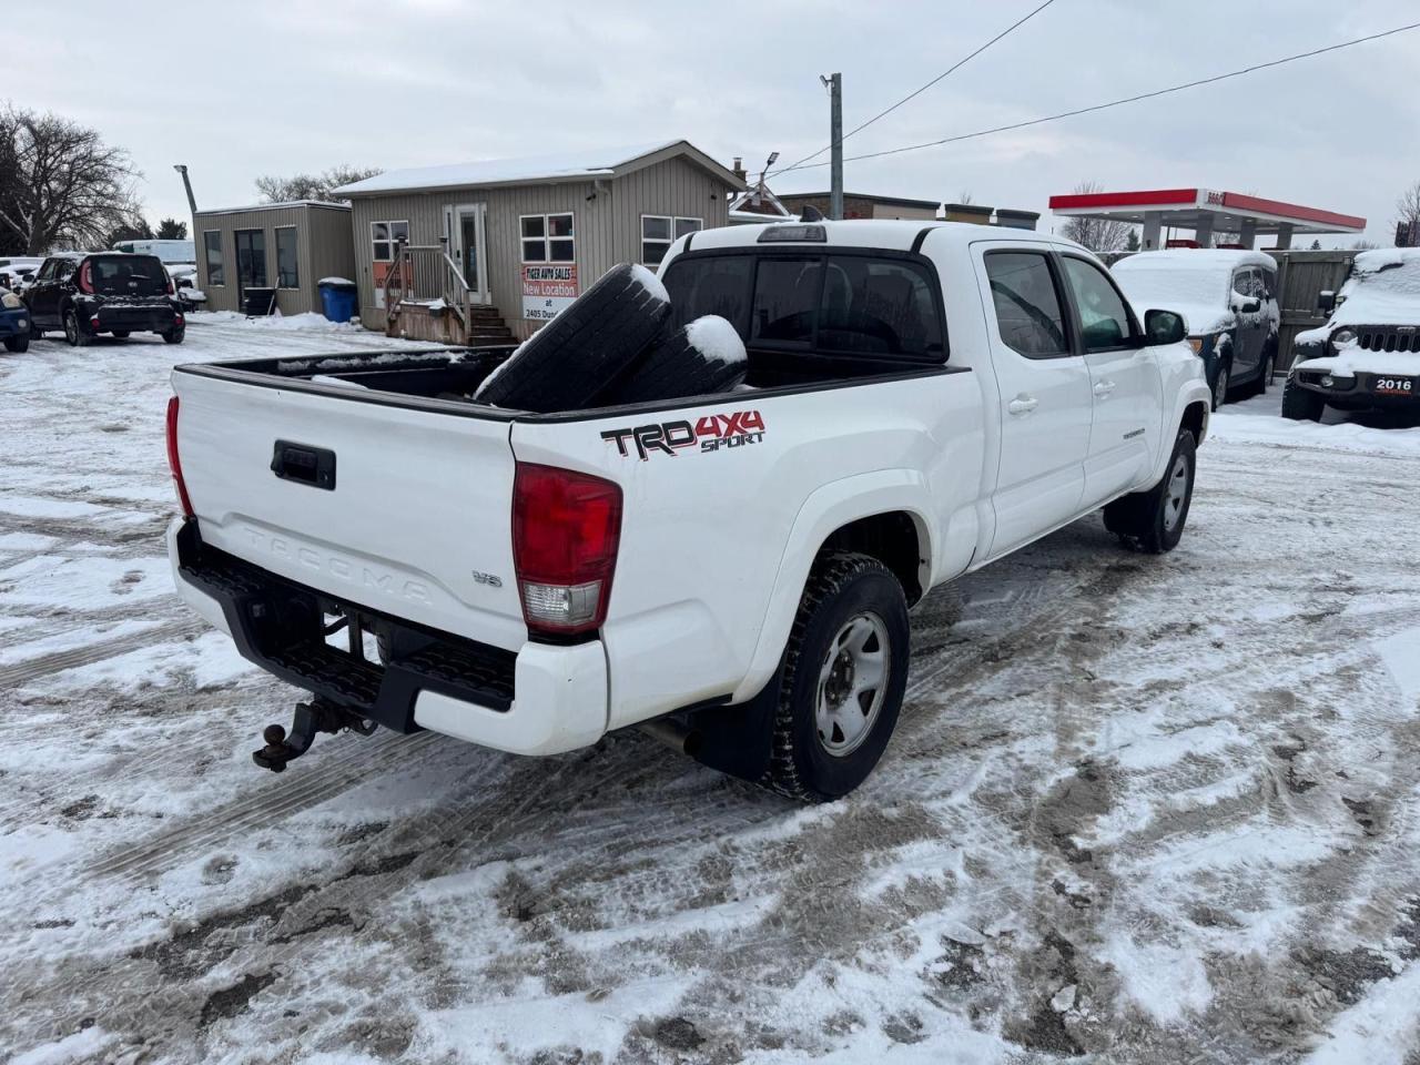
[[[1172,248],[1122,258],[1110,273],[1140,318],[1153,310],[1177,311],[1189,320],[1189,335],[1200,337],[1233,325],[1233,271],[1240,266],[1277,270],[1262,251]]]

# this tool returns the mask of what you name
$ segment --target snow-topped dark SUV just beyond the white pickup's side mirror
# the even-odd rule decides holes
[[[1264,251],[1167,248],[1122,258],[1113,273],[1136,310],[1167,307],[1189,320],[1214,410],[1240,390],[1267,392],[1282,320],[1277,260]]]

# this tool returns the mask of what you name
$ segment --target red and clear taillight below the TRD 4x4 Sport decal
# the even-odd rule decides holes
[[[606,621],[621,514],[621,487],[613,481],[518,463],[513,565],[530,630],[565,636]]]

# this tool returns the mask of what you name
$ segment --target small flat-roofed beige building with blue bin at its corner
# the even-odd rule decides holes
[[[355,280],[351,209],[297,200],[200,210],[192,216],[197,287],[209,311],[246,310],[250,290],[275,290],[281,314],[321,311],[318,283]],[[263,308],[264,312],[264,308]]]

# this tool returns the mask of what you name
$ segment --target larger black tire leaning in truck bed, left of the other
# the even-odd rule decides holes
[[[487,376],[474,399],[551,413],[589,406],[660,332],[670,297],[646,267],[608,270]]]

